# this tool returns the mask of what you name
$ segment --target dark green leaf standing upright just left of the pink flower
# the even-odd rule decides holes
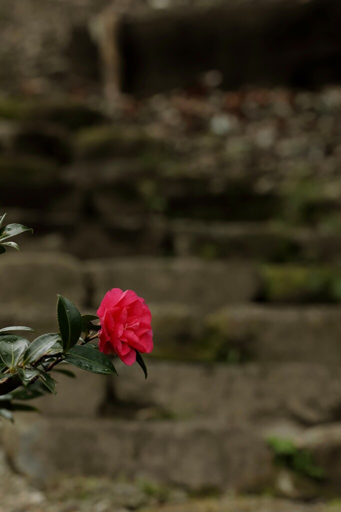
[[[63,351],[76,345],[82,333],[82,318],[76,306],[69,299],[58,295],[57,318]]]

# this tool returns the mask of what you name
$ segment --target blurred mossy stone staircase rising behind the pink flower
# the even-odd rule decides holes
[[[212,98],[163,98],[160,112],[154,98],[115,122],[79,104],[72,125],[73,104],[41,120],[38,104],[0,101],[1,207],[35,229],[0,260],[0,327],[55,331],[56,293],[86,312],[112,287],[153,314],[147,381],[124,365],[58,375],[41,416],[4,426],[35,480],[340,493],[341,91]],[[278,466],[269,438],[308,462]]]

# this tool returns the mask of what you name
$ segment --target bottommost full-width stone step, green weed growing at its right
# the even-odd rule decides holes
[[[268,429],[266,437],[270,434]],[[271,437],[272,446],[275,439],[278,446],[289,442],[293,454],[305,457],[310,466],[295,470],[289,461],[279,469],[280,452],[270,448],[264,433],[212,420],[48,419],[17,414],[15,424],[6,423],[0,431],[11,467],[40,485],[60,475],[105,475],[201,493],[268,489],[295,499],[339,495],[339,423],[306,429],[292,439]],[[321,471],[323,480],[309,477],[311,467]]]

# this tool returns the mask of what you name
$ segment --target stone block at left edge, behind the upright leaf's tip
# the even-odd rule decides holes
[[[18,312],[55,311],[57,293],[70,298],[78,307],[82,306],[85,289],[78,260],[66,254],[48,252],[20,252],[2,257],[1,303],[17,308]]]

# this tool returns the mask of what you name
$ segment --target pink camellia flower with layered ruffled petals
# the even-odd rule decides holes
[[[109,290],[97,310],[101,319],[99,349],[105,354],[115,354],[126,364],[132,365],[136,352],[153,350],[151,313],[144,299],[132,290]]]

